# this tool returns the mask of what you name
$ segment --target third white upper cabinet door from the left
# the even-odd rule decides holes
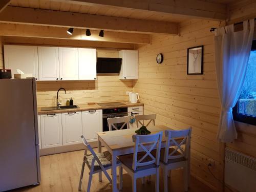
[[[78,80],[78,49],[59,48],[60,80]]]

